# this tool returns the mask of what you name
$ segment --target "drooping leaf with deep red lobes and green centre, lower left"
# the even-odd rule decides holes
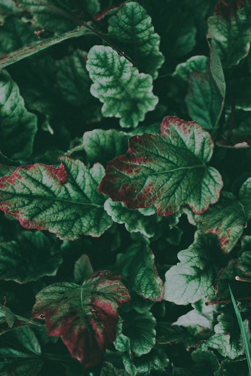
[[[130,300],[120,278],[103,270],[91,274],[81,286],[54,283],[36,296],[33,315],[43,315],[47,333],[60,335],[71,356],[86,367],[98,364],[116,338],[117,308]]]

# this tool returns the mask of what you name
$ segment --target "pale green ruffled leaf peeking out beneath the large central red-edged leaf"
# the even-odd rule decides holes
[[[139,232],[147,238],[152,238],[155,235],[157,214],[145,216],[139,210],[130,210],[123,203],[116,203],[111,199],[104,203],[104,210],[113,222],[124,224],[129,232]]]

